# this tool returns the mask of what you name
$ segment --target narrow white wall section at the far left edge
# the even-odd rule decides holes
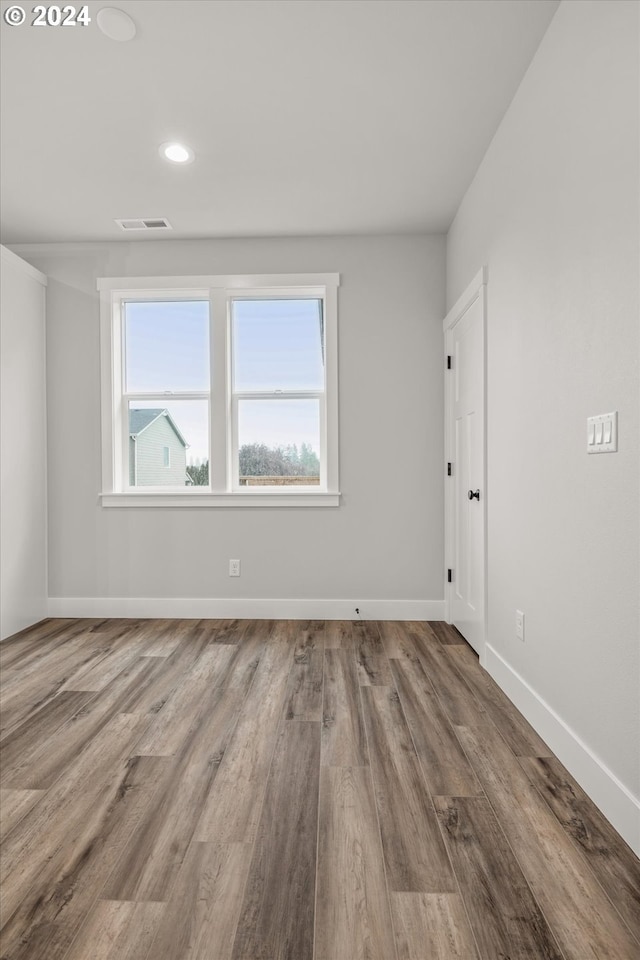
[[[0,248],[0,639],[47,616],[46,278]]]

